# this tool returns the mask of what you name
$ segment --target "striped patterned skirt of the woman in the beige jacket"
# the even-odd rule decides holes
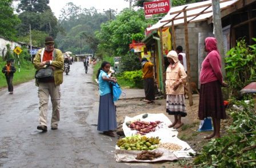
[[[184,94],[167,95],[166,112],[169,113],[169,115],[181,115],[181,117],[185,117],[187,113]]]

